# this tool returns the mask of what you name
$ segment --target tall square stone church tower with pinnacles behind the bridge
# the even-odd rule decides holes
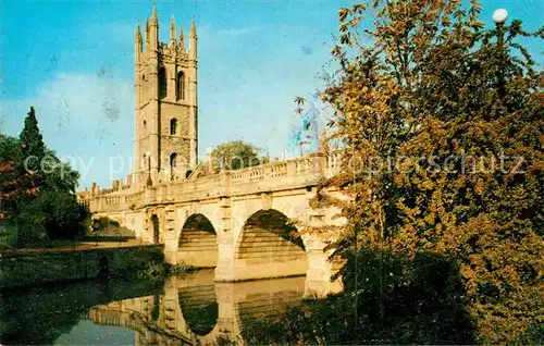
[[[182,28],[176,37],[174,17],[170,23],[170,44],[159,40],[154,7],[144,29],[145,38],[140,26],[136,28],[134,65],[135,178],[139,186],[185,177],[197,164],[198,155],[195,21],[188,49]]]

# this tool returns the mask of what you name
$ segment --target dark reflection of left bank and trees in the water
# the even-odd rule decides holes
[[[90,281],[2,294],[0,344],[53,344],[69,333],[92,306],[151,295],[161,281],[116,281],[108,285]]]

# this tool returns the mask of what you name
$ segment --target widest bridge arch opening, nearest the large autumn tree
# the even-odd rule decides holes
[[[275,209],[251,214],[235,249],[237,279],[305,275],[308,257],[297,232],[289,219]]]

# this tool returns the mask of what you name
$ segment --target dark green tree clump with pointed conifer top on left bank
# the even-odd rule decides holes
[[[16,224],[18,246],[83,233],[86,207],[77,201],[79,174],[42,141],[34,108],[20,139],[0,136],[0,220]]]

